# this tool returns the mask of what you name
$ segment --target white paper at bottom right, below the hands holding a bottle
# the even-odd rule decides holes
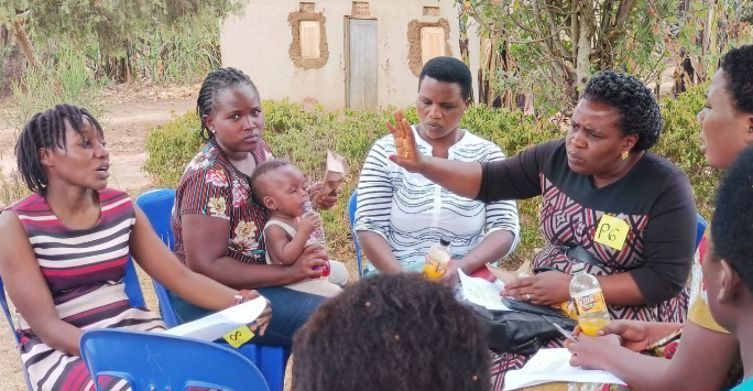
[[[566,348],[539,349],[522,369],[508,372],[504,377],[504,390],[517,390],[555,381],[626,385],[608,371],[570,366],[570,357]]]

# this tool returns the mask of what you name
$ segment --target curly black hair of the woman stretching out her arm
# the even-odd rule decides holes
[[[604,70],[586,84],[582,99],[613,107],[620,116],[620,128],[625,135],[637,134],[634,151],[654,146],[662,135],[662,112],[656,98],[637,78]]]

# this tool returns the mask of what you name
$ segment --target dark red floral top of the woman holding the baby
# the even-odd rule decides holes
[[[274,158],[263,141],[251,154],[257,164]],[[269,211],[252,202],[249,176],[238,171],[214,141],[190,161],[175,193],[173,251],[183,263],[186,254],[181,217],[190,214],[229,220],[226,256],[245,263],[265,263],[261,228]]]

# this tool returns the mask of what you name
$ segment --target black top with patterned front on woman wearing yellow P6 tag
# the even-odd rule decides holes
[[[588,272],[630,273],[643,295],[645,305],[610,305],[613,318],[684,321],[687,292],[681,293],[692,263],[696,204],[688,176],[679,167],[646,152],[622,178],[596,187],[591,176],[570,170],[560,139],[505,161],[484,163],[483,173],[482,200],[542,196],[538,217],[548,246],[536,254],[534,268],[569,273],[577,260],[563,248],[581,247],[599,261],[587,264]],[[619,250],[594,239],[603,215],[630,227]]]

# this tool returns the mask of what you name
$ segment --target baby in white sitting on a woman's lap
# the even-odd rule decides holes
[[[266,263],[295,263],[308,237],[321,227],[319,214],[303,210],[304,203],[309,200],[303,173],[284,160],[264,162],[251,175],[251,193],[271,214],[264,225]],[[285,287],[331,297],[341,291],[349,278],[341,262],[330,260],[329,269],[327,278],[307,279]]]

